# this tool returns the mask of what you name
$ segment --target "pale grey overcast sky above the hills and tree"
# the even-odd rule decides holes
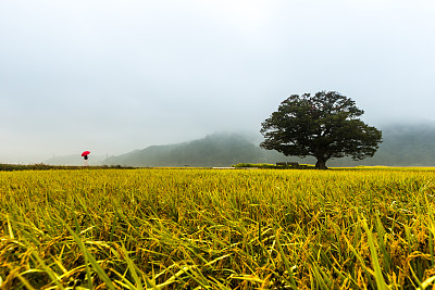
[[[258,133],[334,90],[434,122],[432,0],[0,0],[0,163]]]

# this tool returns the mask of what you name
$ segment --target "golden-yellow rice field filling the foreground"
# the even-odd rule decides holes
[[[433,168],[0,172],[1,289],[431,289]]]

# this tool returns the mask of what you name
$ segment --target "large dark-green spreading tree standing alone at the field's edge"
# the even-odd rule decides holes
[[[344,156],[371,157],[382,142],[382,131],[363,123],[364,111],[336,91],[293,94],[261,124],[260,147],[286,156],[314,156],[315,166]]]

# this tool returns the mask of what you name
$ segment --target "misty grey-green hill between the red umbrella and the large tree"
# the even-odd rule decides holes
[[[213,134],[190,142],[151,146],[144,150],[113,156],[107,165],[130,166],[231,166],[237,163],[273,163],[290,161],[278,152],[259,148],[237,134]]]

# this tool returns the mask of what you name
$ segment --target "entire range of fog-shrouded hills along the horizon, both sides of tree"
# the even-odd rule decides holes
[[[352,161],[349,157],[330,160],[327,166],[435,166],[435,125],[390,125],[383,129],[383,143],[373,157]],[[260,138],[259,138],[260,137]],[[90,165],[154,166],[231,166],[237,163],[275,163],[297,161],[314,164],[312,157],[284,156],[276,151],[261,149],[261,136],[220,133],[189,142],[151,146],[141,150],[111,156],[90,155]],[[53,165],[82,165],[77,155],[59,156],[46,161]]]

